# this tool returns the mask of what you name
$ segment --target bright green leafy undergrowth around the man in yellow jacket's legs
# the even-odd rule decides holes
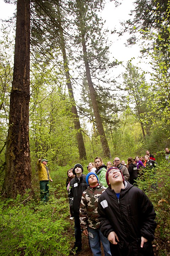
[[[66,176],[66,170],[53,173],[46,204],[39,200],[39,182],[34,187],[34,197],[28,191],[15,200],[0,199],[0,256],[69,254]]]

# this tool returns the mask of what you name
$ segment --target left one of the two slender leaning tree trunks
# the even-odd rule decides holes
[[[59,20],[61,21],[59,6],[58,6],[58,15],[59,15]],[[71,83],[69,68],[68,68],[68,60],[67,60],[67,55],[66,55],[65,41],[64,41],[64,36],[63,36],[63,28],[61,26],[61,22],[60,22],[60,46],[61,46],[61,50],[62,50],[62,54],[63,54],[63,62],[64,62],[64,69],[65,69],[66,79],[67,79],[67,87],[68,87],[69,97],[70,97],[70,100],[72,102],[73,121],[74,121],[75,130],[77,132],[76,135],[77,135],[79,156],[80,156],[80,159],[87,160],[83,135],[81,133],[81,126],[80,126],[79,116],[78,116],[78,113],[77,113],[77,108],[75,106],[73,88],[72,88],[72,83]]]

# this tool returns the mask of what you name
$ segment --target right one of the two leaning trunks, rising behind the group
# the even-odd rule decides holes
[[[87,60],[85,37],[82,32],[81,32],[81,39],[82,39],[82,46],[83,46],[84,63],[85,63],[85,68],[86,68],[86,77],[87,77],[87,82],[88,82],[88,86],[89,86],[90,98],[91,98],[91,102],[92,102],[92,106],[93,106],[93,110],[94,110],[94,115],[95,115],[95,119],[96,119],[97,129],[98,129],[98,133],[100,135],[100,140],[101,140],[104,156],[111,159],[109,145],[107,142],[106,135],[104,133],[102,119],[101,119],[101,116],[100,116],[100,113],[98,110],[95,89],[94,89],[94,86],[93,86],[92,80],[91,80],[90,68],[89,68],[89,63]]]

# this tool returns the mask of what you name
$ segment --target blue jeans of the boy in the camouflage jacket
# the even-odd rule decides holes
[[[89,227],[89,240],[91,251],[94,256],[101,256],[101,242],[104,249],[105,256],[111,256],[111,250],[109,246],[109,241],[105,238],[100,231],[100,229],[92,229]]]

